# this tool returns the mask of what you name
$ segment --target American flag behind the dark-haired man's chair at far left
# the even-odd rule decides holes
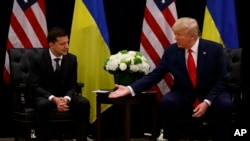
[[[10,48],[47,47],[44,0],[14,0],[4,67],[4,81],[10,82]]]

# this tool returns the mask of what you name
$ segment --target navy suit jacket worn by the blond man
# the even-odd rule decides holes
[[[177,44],[172,44],[165,49],[160,63],[151,73],[131,84],[135,93],[149,89],[166,73],[171,73],[174,77],[171,91],[180,92],[188,98],[196,96],[201,100],[208,99],[212,102],[216,95],[224,91],[227,80],[223,47],[212,41],[199,40],[196,89],[189,79],[185,49],[178,48]]]

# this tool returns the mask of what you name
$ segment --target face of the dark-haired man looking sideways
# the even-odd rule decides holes
[[[69,49],[69,38],[68,36],[57,37],[57,41],[49,43],[49,46],[55,56],[66,55]]]

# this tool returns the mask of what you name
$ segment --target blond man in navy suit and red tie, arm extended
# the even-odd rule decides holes
[[[226,66],[221,44],[201,39],[197,21],[183,17],[172,27],[176,43],[166,47],[160,63],[148,75],[129,86],[116,85],[109,98],[135,95],[159,82],[166,73],[174,77],[174,84],[161,101],[164,138],[178,141],[178,119],[183,116],[200,118],[209,115],[217,126],[214,141],[229,140],[229,121],[232,100],[225,90]],[[194,60],[194,82],[189,75],[188,50]],[[198,101],[198,102],[196,102]],[[194,103],[198,103],[194,105]]]

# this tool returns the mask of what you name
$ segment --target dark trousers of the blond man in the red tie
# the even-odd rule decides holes
[[[164,138],[168,141],[178,141],[178,120],[183,117],[192,118],[194,98],[188,98],[181,93],[169,92],[160,101]],[[214,141],[229,140],[229,124],[232,114],[232,100],[228,93],[218,95],[209,106],[206,116],[210,117],[212,125],[216,125]]]

